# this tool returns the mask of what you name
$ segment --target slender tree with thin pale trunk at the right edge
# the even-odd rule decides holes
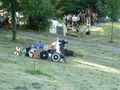
[[[110,17],[112,22],[110,42],[113,42],[114,22],[120,17],[120,0],[103,0],[98,1],[98,7],[101,13]]]

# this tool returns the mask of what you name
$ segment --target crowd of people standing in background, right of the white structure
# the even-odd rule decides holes
[[[84,12],[80,11],[78,14],[64,15],[64,21],[68,30],[77,28],[80,25],[86,25],[89,31],[89,26],[97,23],[97,17],[96,13],[92,12],[89,8],[85,8]]]

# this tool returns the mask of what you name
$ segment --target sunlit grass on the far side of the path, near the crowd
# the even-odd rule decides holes
[[[80,27],[80,31],[83,31],[85,26]],[[70,32],[73,35],[77,35],[78,37],[70,37],[70,36],[61,36],[57,35],[59,37],[65,37],[65,38],[70,38],[70,39],[75,39],[75,40],[80,40],[84,42],[92,42],[92,43],[101,43],[101,44],[110,44],[116,47],[120,47],[120,23],[114,23],[114,34],[113,34],[113,41],[114,43],[109,43],[110,37],[111,37],[111,23],[100,23],[96,26],[91,26],[91,35],[86,36],[83,34],[81,36],[81,33],[77,32]],[[48,33],[45,35],[48,35]],[[56,35],[55,35],[56,36]]]

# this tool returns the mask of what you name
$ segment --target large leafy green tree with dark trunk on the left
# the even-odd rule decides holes
[[[15,14],[19,12],[28,19],[28,28],[47,29],[49,27],[49,18],[51,17],[51,8],[48,0],[0,0],[3,8],[11,14],[13,26],[13,40],[16,40]],[[2,9],[3,9],[2,8]],[[31,21],[32,20],[32,21]]]

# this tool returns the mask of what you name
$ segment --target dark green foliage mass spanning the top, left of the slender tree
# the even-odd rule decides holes
[[[78,13],[81,8],[95,6],[96,0],[0,0],[10,13],[19,12],[27,19],[30,29],[46,30],[49,18]]]

